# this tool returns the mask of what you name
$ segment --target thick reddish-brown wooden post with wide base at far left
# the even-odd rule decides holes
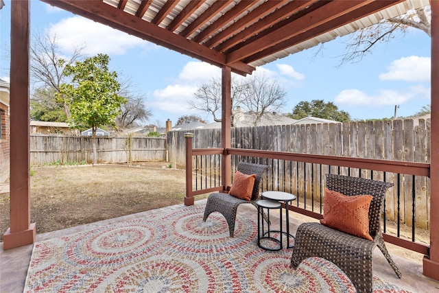
[[[32,244],[30,223],[29,0],[11,1],[10,228],[3,249]]]

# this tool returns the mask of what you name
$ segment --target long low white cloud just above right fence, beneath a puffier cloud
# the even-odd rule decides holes
[[[409,99],[429,99],[430,89],[412,86],[407,91],[379,90],[376,95],[368,95],[358,89],[341,91],[334,99],[335,104],[344,106],[386,106],[400,105]]]

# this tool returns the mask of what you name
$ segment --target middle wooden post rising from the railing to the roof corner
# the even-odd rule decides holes
[[[232,160],[227,149],[232,145],[232,98],[230,94],[230,85],[232,70],[230,67],[222,67],[222,108],[221,108],[221,147],[224,154],[221,158],[221,181],[225,189],[230,187],[232,181]]]

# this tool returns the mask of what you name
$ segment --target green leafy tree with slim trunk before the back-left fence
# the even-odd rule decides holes
[[[64,68],[72,84],[61,84],[58,97],[69,104],[69,123],[75,128],[92,129],[93,164],[97,163],[96,130],[100,126],[115,126],[126,98],[117,93],[120,84],[117,73],[108,70],[106,54],[86,58]]]

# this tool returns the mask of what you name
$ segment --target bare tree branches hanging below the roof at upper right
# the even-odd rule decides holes
[[[346,42],[346,52],[340,56],[340,65],[348,62],[360,62],[366,54],[372,54],[377,44],[388,43],[396,36],[404,36],[408,27],[422,30],[431,37],[431,11],[429,6],[381,21],[376,25],[351,34]]]

